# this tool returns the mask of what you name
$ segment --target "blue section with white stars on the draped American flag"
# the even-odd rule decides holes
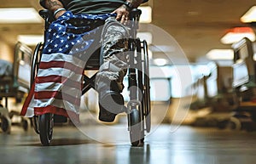
[[[87,23],[94,24],[96,22],[96,19],[98,18],[94,15],[83,15],[82,17],[76,17],[74,15],[73,17],[73,14],[70,14],[68,12],[64,15],[65,16],[61,18],[65,19],[60,20],[59,23],[54,23],[50,25],[49,29],[47,30],[47,41],[44,50],[45,52],[47,52],[47,54],[61,52],[64,54],[76,54],[78,56],[84,55],[84,51],[86,51],[86,49],[90,47],[90,44],[94,42],[94,39],[90,39],[90,35],[93,36],[94,34],[96,34],[96,32],[98,32],[100,28],[97,27],[96,29],[88,31],[81,35],[80,33],[76,32],[79,30],[79,25],[87,25]],[[68,16],[72,18],[78,18],[77,20],[75,20],[76,25],[74,25],[74,20],[67,21]],[[102,18],[102,20],[103,19],[104,18]],[[70,28],[68,28],[69,26]],[[86,28],[90,28],[90,25],[88,25],[88,27]]]

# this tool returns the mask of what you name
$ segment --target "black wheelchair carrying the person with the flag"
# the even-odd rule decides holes
[[[131,37],[129,41],[130,60],[128,63],[128,89],[130,92],[129,99],[126,106],[126,114],[128,119],[128,131],[130,133],[130,140],[132,146],[142,145],[146,133],[150,132],[151,116],[150,116],[150,87],[148,76],[148,44],[145,40],[141,41],[137,38],[138,20],[142,11],[133,9],[130,14],[131,20]],[[52,14],[48,10],[43,9],[39,14],[44,19],[44,31],[49,27],[50,22],[53,21]],[[44,43],[39,42],[36,46],[32,56],[32,74],[31,84],[37,76],[38,66],[42,55]],[[85,65],[84,71],[98,70],[101,63],[100,52],[94,53]],[[84,75],[82,94],[86,93],[90,88],[95,89],[94,76]],[[33,116],[33,127],[36,133],[39,134],[41,143],[49,145],[53,136],[54,114],[44,114],[40,116]]]

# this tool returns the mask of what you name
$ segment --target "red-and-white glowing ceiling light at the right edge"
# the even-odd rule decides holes
[[[252,42],[255,41],[255,34],[250,27],[235,27],[230,29],[224,37],[221,38],[221,42],[224,44],[232,44],[239,42],[243,37],[247,37]]]

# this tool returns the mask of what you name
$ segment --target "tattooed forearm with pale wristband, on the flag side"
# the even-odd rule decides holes
[[[49,9],[54,14],[55,19],[59,18],[66,12],[66,9],[59,0],[40,0],[40,3],[44,8]]]

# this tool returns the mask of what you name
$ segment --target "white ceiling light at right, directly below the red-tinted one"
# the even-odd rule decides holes
[[[207,53],[207,59],[212,60],[226,60],[233,59],[234,51],[233,49],[212,49]]]

